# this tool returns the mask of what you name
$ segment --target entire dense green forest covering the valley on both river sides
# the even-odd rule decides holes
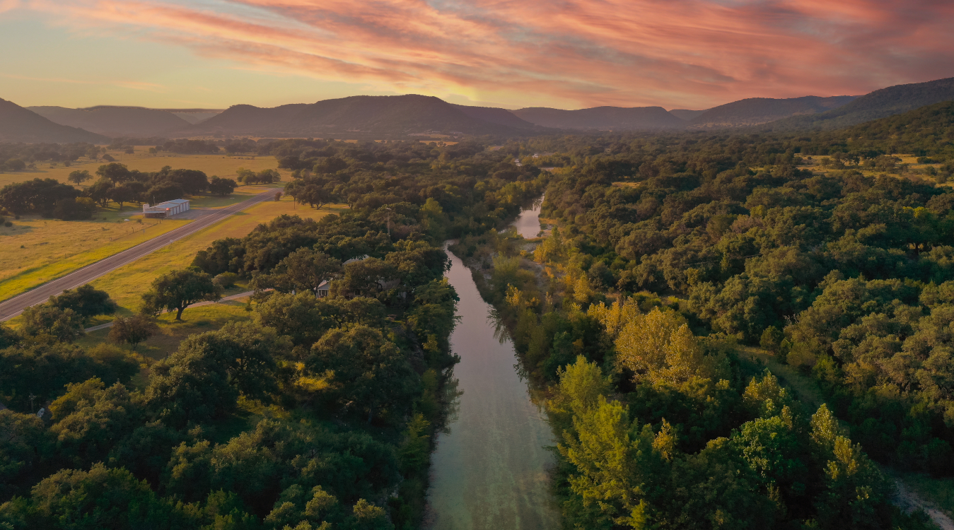
[[[952,116],[946,103],[834,132],[217,144],[276,156],[302,205],[349,210],[282,215],[198,252],[176,275],[211,299],[221,278],[247,279],[251,321],[155,363],[73,345],[85,318],[114,311],[87,288],[0,328],[0,528],[416,527],[453,392],[448,238],[541,385],[567,528],[927,528],[892,504],[881,464],[954,475]],[[111,190],[211,184],[103,168]],[[544,193],[542,238],[504,230]],[[143,297],[146,331],[176,310],[176,275]]]

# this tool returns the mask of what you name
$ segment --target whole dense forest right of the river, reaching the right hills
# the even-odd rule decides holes
[[[869,455],[954,474],[952,116],[502,148],[562,167],[552,230],[453,250],[548,389],[568,527],[922,527]]]

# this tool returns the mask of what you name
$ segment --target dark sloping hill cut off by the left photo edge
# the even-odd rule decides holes
[[[24,109],[19,105],[0,99],[0,141],[25,143],[90,142],[109,143],[110,139],[75,127],[53,123],[51,120]]]

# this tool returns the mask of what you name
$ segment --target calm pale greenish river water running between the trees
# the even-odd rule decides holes
[[[536,221],[531,236],[539,230]],[[450,260],[447,278],[461,297],[462,317],[450,345],[461,357],[454,376],[463,394],[431,457],[425,528],[555,530],[559,516],[548,475],[554,462],[546,447],[556,441],[550,425],[517,375],[509,337],[495,336],[491,307],[470,271],[457,256]]]

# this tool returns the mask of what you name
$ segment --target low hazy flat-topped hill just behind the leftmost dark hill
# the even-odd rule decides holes
[[[160,136],[191,127],[191,123],[168,111],[142,107],[91,107],[66,109],[63,107],[29,107],[52,122],[80,127],[107,136]]]

